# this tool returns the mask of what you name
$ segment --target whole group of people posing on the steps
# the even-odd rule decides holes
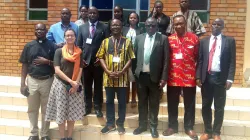
[[[145,21],[146,33],[139,27],[136,12],[131,12],[125,22],[120,6],[114,7],[114,19],[108,25],[98,21],[98,9],[94,6],[81,6],[80,19],[75,23],[70,21],[70,10],[63,8],[61,22],[53,24],[48,32],[46,25],[37,24],[36,40],[25,45],[19,59],[22,63],[20,90],[28,99],[29,140],[39,140],[40,106],[42,140],[50,140],[50,121],[58,124],[61,140],[72,140],[75,121],[89,115],[92,104],[96,116],[103,117],[103,86],[107,123],[101,133],[117,130],[124,134],[130,82],[132,107],[137,106],[138,95],[139,127],[134,135],[147,131],[149,124],[151,136],[159,137],[159,104],[163,87],[167,85],[168,129],[163,131],[163,136],[178,132],[181,95],[185,133],[197,140],[193,127],[198,86],[205,127],[200,139],[220,140],[226,90],[230,89],[235,74],[235,40],[222,34],[224,21],[220,18],[212,22],[211,35],[200,40],[206,30],[198,15],[188,9],[189,0],[179,2],[181,10],[170,18],[162,12],[163,3],[156,1]]]

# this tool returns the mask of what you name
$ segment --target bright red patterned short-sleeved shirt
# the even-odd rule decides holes
[[[173,34],[168,39],[170,44],[168,86],[196,86],[195,70],[198,57],[198,37],[187,32],[182,38]],[[182,58],[180,58],[180,54]]]

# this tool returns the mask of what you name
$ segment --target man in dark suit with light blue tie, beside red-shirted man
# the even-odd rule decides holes
[[[159,98],[168,78],[169,43],[165,35],[156,33],[155,18],[148,18],[145,26],[147,33],[137,36],[134,46],[136,67],[132,69],[138,82],[139,127],[133,133],[147,130],[149,107],[150,132],[158,138]]]

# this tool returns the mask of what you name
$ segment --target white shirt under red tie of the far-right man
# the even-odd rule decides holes
[[[217,41],[216,41],[216,49],[214,52],[214,56],[213,56],[213,61],[212,61],[212,67],[211,67],[211,71],[214,72],[220,72],[220,57],[221,57],[221,34],[216,36]],[[215,36],[211,35],[210,37],[210,41],[209,41],[209,52],[212,49],[212,46],[214,44],[215,41]]]

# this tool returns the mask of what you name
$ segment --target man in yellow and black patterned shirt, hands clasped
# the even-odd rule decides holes
[[[135,58],[131,41],[122,37],[122,23],[114,19],[110,25],[112,36],[103,40],[102,45],[97,52],[96,57],[100,59],[101,65],[105,71],[103,76],[103,85],[106,90],[106,115],[107,124],[101,130],[102,133],[114,131],[115,127],[115,107],[114,98],[117,93],[118,116],[116,120],[119,134],[124,134],[124,121],[126,115],[126,94],[128,80],[128,68],[131,65],[131,59]]]

